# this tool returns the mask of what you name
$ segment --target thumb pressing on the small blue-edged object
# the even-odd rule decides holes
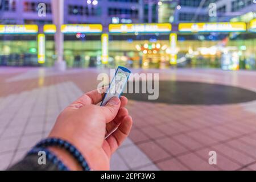
[[[101,107],[106,123],[112,121],[120,108],[120,100],[118,97],[112,97],[109,102]]]

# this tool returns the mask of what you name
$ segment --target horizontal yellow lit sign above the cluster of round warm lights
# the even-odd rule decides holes
[[[170,23],[109,24],[110,33],[161,33],[171,30]]]

